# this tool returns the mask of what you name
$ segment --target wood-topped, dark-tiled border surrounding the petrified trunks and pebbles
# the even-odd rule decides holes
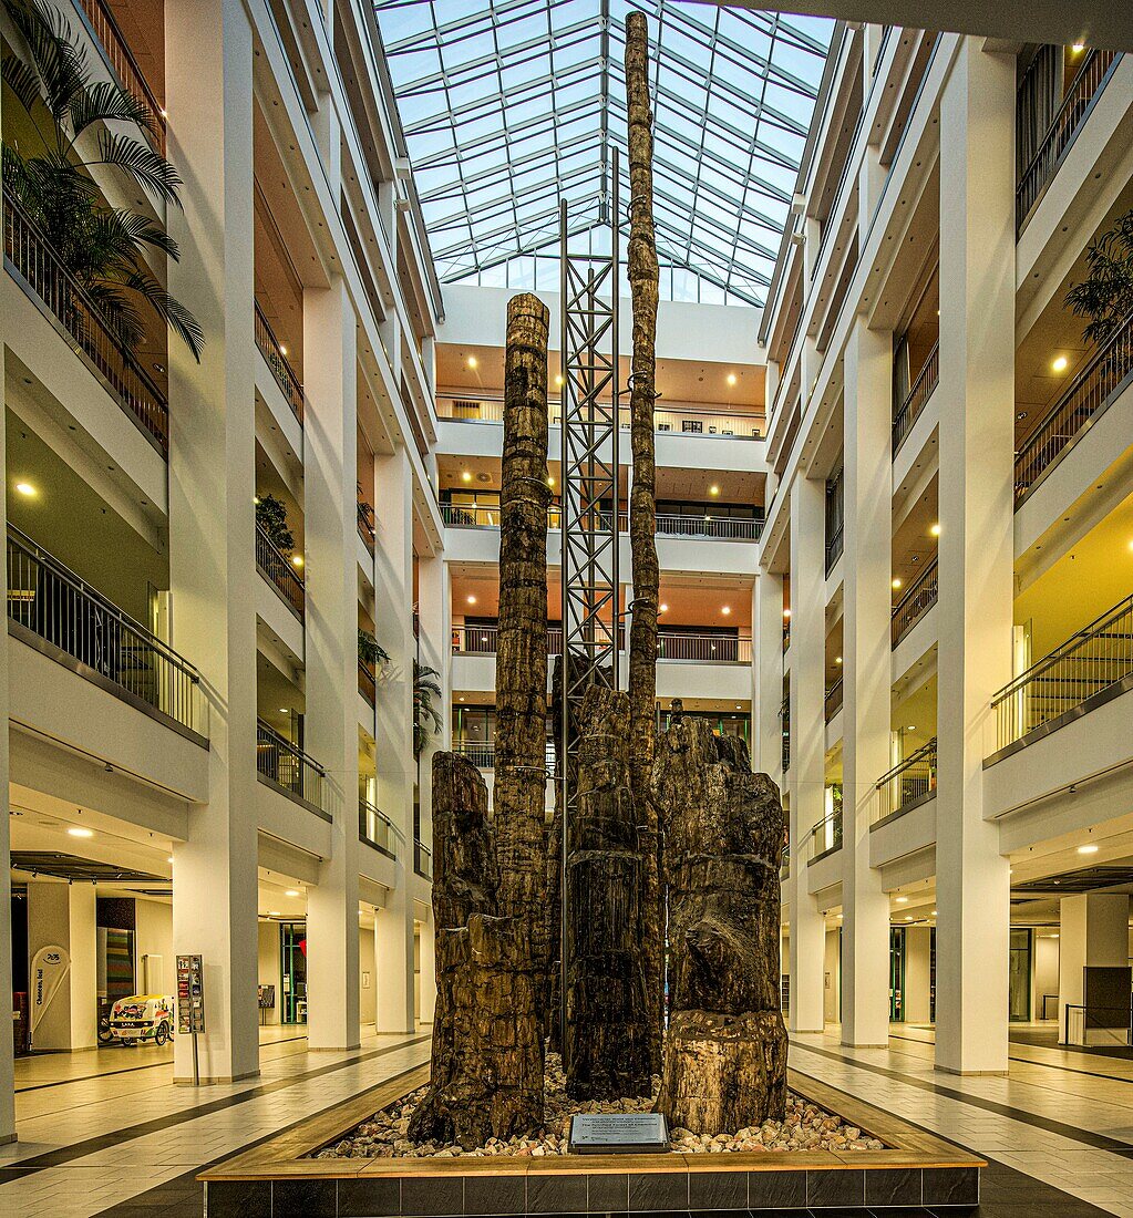
[[[791,1090],[889,1149],[763,1155],[557,1155],[546,1158],[308,1156],[423,1085],[418,1066],[229,1160],[205,1181],[210,1218],[425,1218],[461,1214],[688,1213],[975,1206],[983,1160],[798,1071]]]

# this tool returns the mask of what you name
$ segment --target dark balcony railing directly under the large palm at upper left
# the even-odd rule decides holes
[[[57,323],[72,351],[95,373],[141,434],[169,456],[169,404],[17,202],[4,194],[4,261],[9,274]]]

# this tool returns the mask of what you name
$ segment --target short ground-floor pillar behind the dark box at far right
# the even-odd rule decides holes
[[[1085,1004],[1087,968],[1126,968],[1129,963],[1129,894],[1082,893],[1059,901],[1059,1041],[1089,1044],[1067,1024],[1067,1006]],[[1109,1004],[1106,1004],[1109,1005]],[[1077,1012],[1081,1018],[1081,1012]],[[1128,1016],[1128,999],[1124,1012]],[[1116,1015],[1116,1012],[1115,1012]],[[1120,1028],[1122,1021],[1104,1022],[1101,1011],[1090,1012],[1095,1028]],[[1076,1019],[1071,1024],[1077,1023]],[[1067,1038],[1066,1033],[1070,1032]],[[1099,1041],[1100,1043],[1100,1041]]]

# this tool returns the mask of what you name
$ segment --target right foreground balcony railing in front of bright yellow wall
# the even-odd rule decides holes
[[[998,748],[1055,731],[1133,688],[1133,597],[1104,613],[992,699]]]

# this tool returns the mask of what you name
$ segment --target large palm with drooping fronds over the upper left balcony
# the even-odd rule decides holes
[[[23,46],[6,52],[4,83],[38,135],[34,150],[4,143],[4,191],[28,216],[79,281],[102,320],[129,350],[145,337],[139,304],[152,309],[200,358],[196,318],[162,286],[145,253],[174,261],[177,242],[149,217],[102,202],[94,172],[125,174],[156,201],[178,206],[182,179],[144,140],[117,129],[133,123],[155,133],[154,117],[113,82],[95,80],[86,50],[67,19],[43,0],[4,0]],[[86,149],[96,155],[84,156]]]

